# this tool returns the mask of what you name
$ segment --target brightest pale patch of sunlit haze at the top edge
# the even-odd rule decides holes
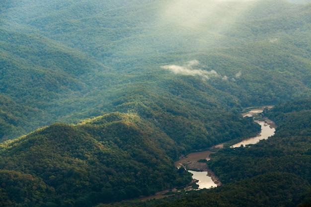
[[[159,12],[160,24],[188,28],[196,32],[229,29],[237,17],[253,3],[232,0],[171,0]]]

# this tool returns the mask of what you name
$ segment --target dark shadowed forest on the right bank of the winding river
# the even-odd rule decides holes
[[[311,100],[287,102],[265,114],[278,125],[275,136],[250,147],[228,147],[211,156],[209,167],[226,185],[148,205],[310,207]],[[111,206],[128,205],[132,206]]]

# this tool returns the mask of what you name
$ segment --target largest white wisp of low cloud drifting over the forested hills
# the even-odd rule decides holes
[[[199,61],[193,60],[187,62],[185,66],[177,66],[177,65],[167,65],[162,66],[162,69],[170,70],[175,74],[181,75],[191,75],[191,76],[199,76],[203,79],[210,79],[211,77],[219,77],[220,75],[215,70],[203,70],[203,69],[193,69],[193,66],[199,65]]]

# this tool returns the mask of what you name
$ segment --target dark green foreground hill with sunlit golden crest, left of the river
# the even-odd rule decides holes
[[[112,113],[76,126],[54,124],[2,144],[1,204],[92,206],[190,182],[167,156],[177,149],[174,142],[147,125],[135,115]],[[12,194],[16,177],[21,184]]]

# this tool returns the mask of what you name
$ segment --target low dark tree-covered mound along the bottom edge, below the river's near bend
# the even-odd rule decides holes
[[[163,202],[157,207],[295,206],[292,200],[298,199],[298,195],[302,195],[307,189],[307,183],[298,176],[275,172],[190,194],[176,202]]]

